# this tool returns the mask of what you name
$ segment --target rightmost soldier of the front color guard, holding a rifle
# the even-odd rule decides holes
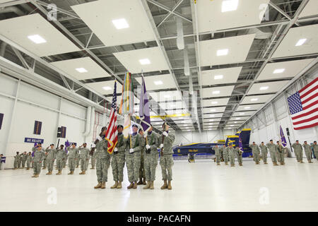
[[[160,138],[159,138],[160,139]],[[160,141],[160,140],[159,140]],[[160,141],[160,166],[163,174],[163,186],[160,189],[172,189],[172,166],[173,166],[173,150],[172,145],[175,142],[175,136],[169,134],[169,126],[163,123],[163,136]],[[167,184],[168,180],[168,184]]]

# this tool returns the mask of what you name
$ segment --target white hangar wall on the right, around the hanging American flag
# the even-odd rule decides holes
[[[309,75],[302,77],[293,85],[280,93],[280,95],[273,99],[273,101],[271,101],[268,105],[260,109],[257,114],[255,114],[241,126],[240,129],[252,129],[250,139],[251,143],[253,141],[257,143],[261,143],[261,141],[264,141],[264,143],[267,143],[270,139],[273,139],[273,141],[279,141],[279,126],[282,126],[287,143],[288,136],[286,133],[286,128],[288,128],[290,131],[290,143],[292,144],[296,140],[299,140],[300,143],[303,143],[304,141],[312,143],[313,141],[318,140],[318,126],[301,130],[293,129],[287,102],[287,97],[296,93],[302,87],[317,78],[317,76],[318,70],[315,70],[312,71],[312,73],[310,73]],[[290,148],[289,144],[288,148]]]

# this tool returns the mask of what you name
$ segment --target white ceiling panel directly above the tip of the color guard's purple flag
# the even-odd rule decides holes
[[[160,47],[115,52],[114,56],[131,73],[141,73],[142,71],[162,71],[169,69]],[[148,62],[146,62],[146,64],[141,64],[141,61],[145,59],[148,59]]]

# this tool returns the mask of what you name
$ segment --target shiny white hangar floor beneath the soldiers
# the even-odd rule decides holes
[[[243,167],[177,160],[171,191],[160,190],[159,165],[154,190],[127,190],[126,167],[123,189],[110,189],[111,168],[104,190],[93,189],[95,169],[86,175],[79,169],[73,175],[68,169],[60,176],[46,172],[31,178],[33,170],[0,170],[0,211],[318,211],[317,160],[300,164],[288,158],[278,167],[251,159]]]

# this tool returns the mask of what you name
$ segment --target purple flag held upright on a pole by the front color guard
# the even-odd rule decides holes
[[[150,120],[148,95],[147,95],[146,84],[145,84],[145,79],[143,78],[143,74],[142,74],[142,85],[141,85],[141,93],[140,93],[139,117],[141,120],[141,126],[143,127],[143,131],[148,132],[148,130],[151,127],[151,120]]]

